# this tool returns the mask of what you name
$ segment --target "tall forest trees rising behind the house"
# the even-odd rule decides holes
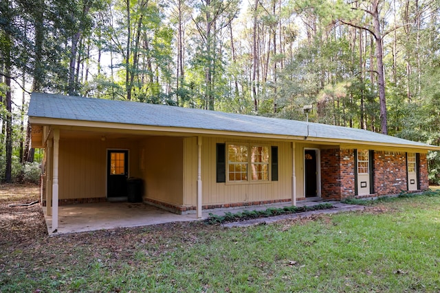
[[[34,160],[32,91],[300,120],[312,104],[310,121],[440,145],[439,9],[439,0],[2,0],[0,178],[23,178]],[[429,159],[434,180],[437,152]]]

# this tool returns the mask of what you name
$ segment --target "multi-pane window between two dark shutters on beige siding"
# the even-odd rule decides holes
[[[267,145],[228,143],[228,182],[268,181],[269,150]]]

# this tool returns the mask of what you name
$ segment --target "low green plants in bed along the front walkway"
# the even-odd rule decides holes
[[[262,211],[245,210],[239,213],[231,213],[230,211],[228,211],[225,213],[225,215],[214,215],[213,213],[209,213],[209,217],[205,220],[205,222],[207,224],[223,224],[225,222],[251,220],[256,218],[267,218],[267,217],[273,217],[275,215],[287,215],[290,213],[304,213],[306,211],[320,211],[322,209],[333,209],[333,204],[324,203],[324,204],[316,204],[313,206],[303,206],[303,207],[291,206],[291,207],[283,207],[283,208],[270,207]]]

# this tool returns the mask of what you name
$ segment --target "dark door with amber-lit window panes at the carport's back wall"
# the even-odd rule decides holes
[[[126,178],[129,176],[129,151],[107,151],[107,197],[126,196]]]

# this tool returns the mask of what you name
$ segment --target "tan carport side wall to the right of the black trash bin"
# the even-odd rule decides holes
[[[184,139],[148,137],[142,142],[141,152],[142,149],[146,198],[182,205],[184,203]]]

